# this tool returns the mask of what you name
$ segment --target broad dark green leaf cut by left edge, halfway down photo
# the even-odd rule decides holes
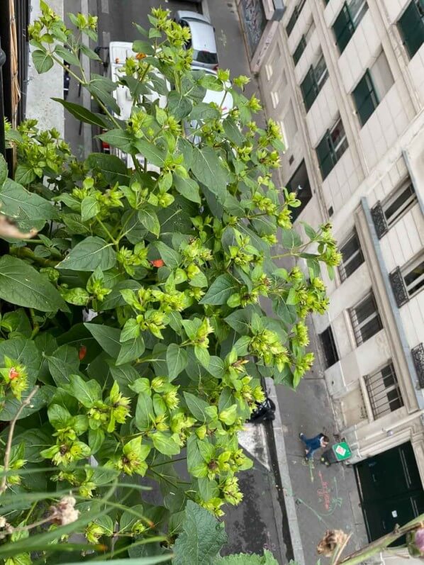
[[[42,312],[68,311],[62,296],[45,276],[9,255],[0,259],[0,298]]]

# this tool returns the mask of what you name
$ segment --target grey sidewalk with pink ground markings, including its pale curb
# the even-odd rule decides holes
[[[352,467],[342,463],[326,467],[320,463],[323,450],[316,452],[313,464],[304,461],[299,432],[312,437],[323,431],[330,437],[330,444],[339,440],[313,332],[311,349],[316,353],[316,363],[297,391],[272,386],[272,396],[279,410],[274,420],[274,436],[281,484],[294,556],[301,565],[316,564],[316,545],[325,530],[344,530],[352,534],[346,554],[367,544]]]

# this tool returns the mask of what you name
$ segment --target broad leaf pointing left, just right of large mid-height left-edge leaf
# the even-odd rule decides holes
[[[106,243],[101,237],[86,237],[75,245],[56,268],[93,272],[97,267],[107,271],[115,264],[116,253],[110,243]]]

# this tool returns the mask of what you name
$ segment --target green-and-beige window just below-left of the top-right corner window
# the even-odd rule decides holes
[[[353,91],[353,99],[361,125],[367,123],[369,116],[379,105],[394,83],[393,75],[384,51],[381,50],[371,69],[367,69]]]

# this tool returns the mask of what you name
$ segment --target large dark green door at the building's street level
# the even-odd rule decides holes
[[[423,485],[410,442],[357,463],[355,473],[370,542],[424,513]]]

